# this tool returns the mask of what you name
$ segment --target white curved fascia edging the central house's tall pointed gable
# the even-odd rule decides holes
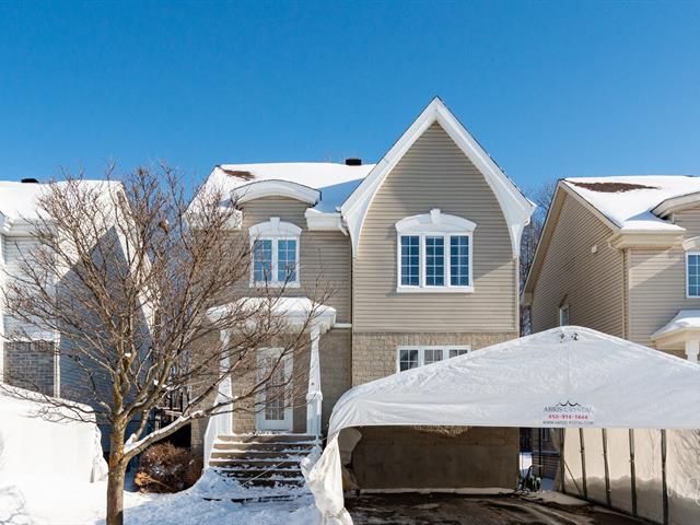
[[[513,257],[518,257],[523,230],[529,223],[529,218],[533,211],[535,211],[536,206],[517,189],[513,182],[508,178],[489,154],[483,151],[474,137],[469,135],[459,120],[450,112],[447,106],[438,97],[423,109],[420,116],[342,205],[341,212],[350,232],[352,255],[357,256],[358,254],[358,245],[364,218],[386,176],[394,170],[411,145],[413,145],[434,122],[439,122],[442,126],[452,140],[454,140],[457,147],[486,178],[505,217],[511,236]]]

